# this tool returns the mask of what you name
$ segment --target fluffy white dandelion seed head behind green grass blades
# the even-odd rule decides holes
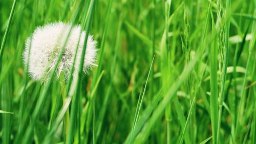
[[[32,38],[29,37],[25,44],[24,51],[24,63],[25,66],[29,60],[28,72],[34,80],[40,80],[45,78],[47,74],[53,69],[57,62],[58,55],[61,51],[63,44],[68,36],[71,25],[63,22],[49,23],[46,26],[38,27],[32,34]],[[61,61],[57,68],[57,75],[61,71],[69,73],[78,44],[78,50],[75,60],[75,69],[79,67],[84,37],[86,33],[83,31],[81,34],[81,27],[75,26],[70,33],[67,40],[65,51],[62,54]],[[80,36],[80,40],[79,40]],[[78,43],[79,40],[79,43]],[[96,41],[93,40],[93,36],[89,35],[87,41],[86,55],[84,57],[83,71],[86,73],[88,69],[96,65],[96,53],[95,49]],[[30,47],[31,44],[31,47]],[[29,56],[30,48],[30,57]]]

